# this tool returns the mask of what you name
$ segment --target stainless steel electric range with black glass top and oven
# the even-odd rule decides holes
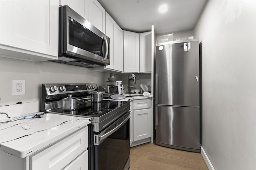
[[[92,102],[88,92],[95,91],[97,88],[94,83],[42,84],[41,111],[91,118],[89,169],[126,170],[130,165],[130,104],[106,100]],[[62,99],[68,94],[78,98],[77,109],[68,111],[62,109]]]

